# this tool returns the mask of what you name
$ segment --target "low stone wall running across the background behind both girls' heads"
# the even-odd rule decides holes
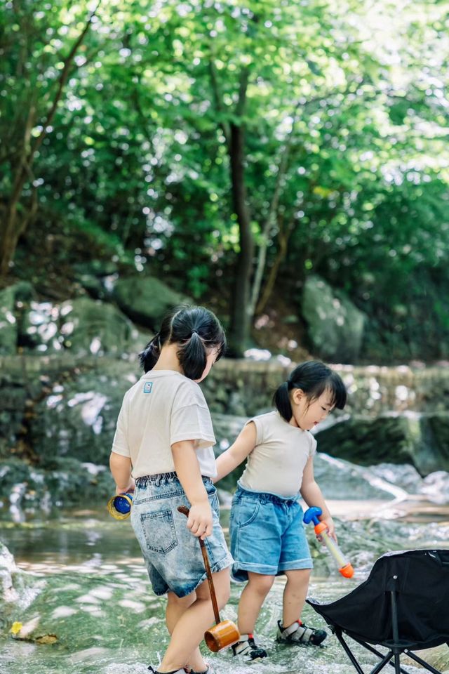
[[[288,377],[294,364],[277,359],[264,362],[223,359],[202,383],[210,408],[223,414],[252,416],[272,407],[276,388]],[[413,368],[409,366],[350,366],[333,368],[347,385],[349,397],[344,414],[376,417],[385,412],[443,412],[449,409],[449,365]],[[140,376],[137,359],[106,356],[61,355],[0,356],[0,382],[8,399],[0,402],[14,409],[14,400],[45,396],[43,388],[55,381],[76,378],[89,372],[101,381],[130,382]],[[6,388],[5,388],[6,387]],[[123,391],[124,392],[124,391]],[[11,399],[12,395],[12,399]]]

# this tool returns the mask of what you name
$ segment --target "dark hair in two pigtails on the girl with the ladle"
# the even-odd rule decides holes
[[[175,307],[166,313],[161,329],[139,354],[145,372],[154,368],[166,344],[180,345],[177,358],[183,373],[189,379],[199,379],[206,367],[206,349],[217,349],[216,360],[225,352],[225,331],[217,317],[204,307]]]

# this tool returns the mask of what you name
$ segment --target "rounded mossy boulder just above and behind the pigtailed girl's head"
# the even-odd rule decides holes
[[[130,319],[154,330],[159,329],[168,309],[180,304],[192,304],[187,296],[180,295],[159,279],[149,276],[119,279],[114,286],[114,299]]]

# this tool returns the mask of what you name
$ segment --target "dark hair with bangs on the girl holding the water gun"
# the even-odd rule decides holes
[[[308,360],[297,365],[274,394],[274,404],[286,421],[290,421],[293,416],[289,395],[293,388],[302,389],[309,404],[326,390],[330,392],[332,407],[343,409],[346,404],[347,390],[340,375],[324,363]]]

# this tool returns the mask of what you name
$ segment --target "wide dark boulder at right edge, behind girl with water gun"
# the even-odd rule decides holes
[[[449,471],[449,414],[353,415],[316,434],[326,454],[360,465],[411,463],[420,475]]]

